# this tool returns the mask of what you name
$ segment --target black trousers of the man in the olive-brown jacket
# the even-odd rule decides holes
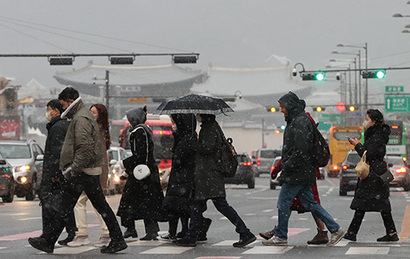
[[[105,196],[100,185],[100,177],[98,175],[87,175],[85,173],[80,173],[78,176],[71,177],[67,180],[67,184],[65,186],[66,195],[63,196],[63,202],[61,204],[62,217],[55,220],[53,231],[43,237],[50,244],[55,244],[63,231],[64,226],[66,225],[64,219],[67,218],[69,213],[73,212],[74,206],[83,191],[87,194],[91,204],[104,219],[108,231],[110,232],[111,240],[124,240],[117,218],[105,200]]]

